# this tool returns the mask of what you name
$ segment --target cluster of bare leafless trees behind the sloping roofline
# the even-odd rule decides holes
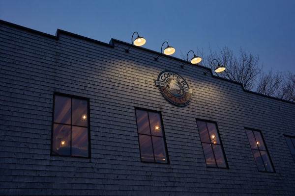
[[[204,49],[198,48],[196,55],[202,57],[199,64],[212,69],[213,74],[239,82],[246,90],[295,102],[295,74],[273,73],[272,69],[266,73],[263,71],[263,64],[259,64],[259,55],[254,56],[241,48],[238,55],[235,55],[228,47],[219,48],[216,52],[209,45],[208,50],[207,54]],[[180,58],[187,60],[181,50]],[[192,54],[188,59],[191,58]],[[213,59],[217,59],[220,65],[225,66],[226,71],[216,73],[214,70],[218,64],[216,61],[212,62]]]

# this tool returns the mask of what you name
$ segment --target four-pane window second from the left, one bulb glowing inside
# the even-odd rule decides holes
[[[158,112],[136,109],[136,122],[141,160],[168,163],[161,115]]]

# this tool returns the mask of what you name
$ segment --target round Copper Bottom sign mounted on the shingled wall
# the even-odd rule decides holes
[[[162,95],[173,104],[179,106],[187,105],[192,98],[192,89],[178,73],[165,70],[155,80]]]

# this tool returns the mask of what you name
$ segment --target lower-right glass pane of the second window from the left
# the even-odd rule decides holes
[[[167,163],[164,139],[162,137],[152,136],[152,144],[155,153],[155,161],[160,163]]]

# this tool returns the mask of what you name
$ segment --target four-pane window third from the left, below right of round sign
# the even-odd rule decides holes
[[[228,168],[216,123],[198,121],[207,167]]]

